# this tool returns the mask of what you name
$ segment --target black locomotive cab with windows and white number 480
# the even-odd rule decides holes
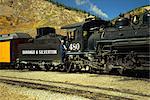
[[[101,25],[107,22],[101,19],[86,20],[85,22],[63,26],[61,29],[67,31],[67,46],[70,52],[88,52],[88,41],[91,35],[98,30]],[[79,53],[79,52],[78,52]]]

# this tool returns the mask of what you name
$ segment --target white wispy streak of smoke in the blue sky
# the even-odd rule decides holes
[[[94,5],[92,2],[89,0],[75,0],[77,5],[86,5],[89,7],[89,9],[94,12],[97,16],[108,19],[108,15],[104,13],[100,8],[98,8],[96,5]]]

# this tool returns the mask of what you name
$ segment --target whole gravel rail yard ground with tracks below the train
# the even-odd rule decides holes
[[[0,100],[149,100],[149,79],[0,70]]]

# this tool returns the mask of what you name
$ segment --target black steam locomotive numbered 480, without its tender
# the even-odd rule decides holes
[[[149,72],[150,14],[119,18],[115,25],[87,20],[62,27],[67,30],[67,71],[144,70]]]

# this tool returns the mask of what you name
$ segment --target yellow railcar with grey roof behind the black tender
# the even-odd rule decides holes
[[[26,33],[11,33],[0,35],[0,67],[14,65],[17,55],[18,44],[26,43],[32,37]]]

